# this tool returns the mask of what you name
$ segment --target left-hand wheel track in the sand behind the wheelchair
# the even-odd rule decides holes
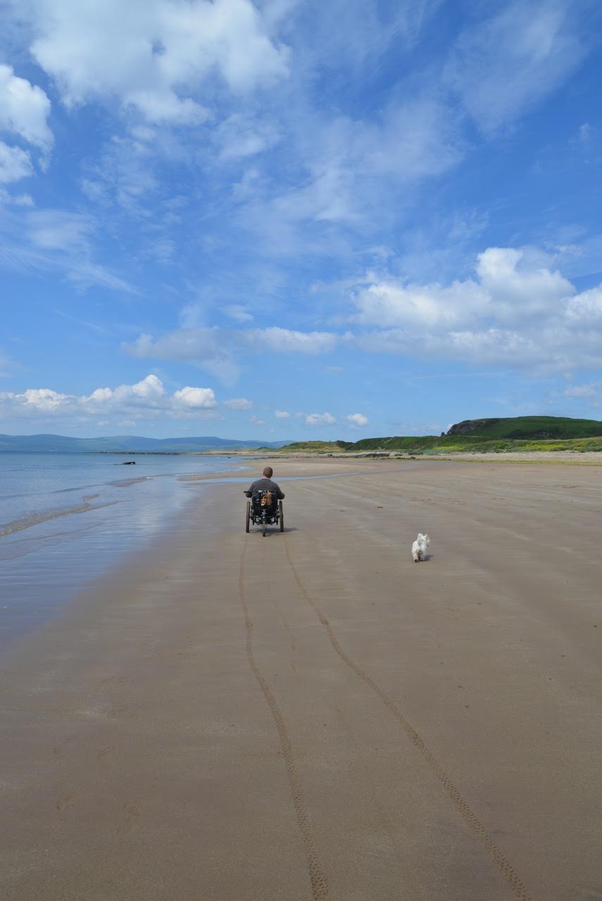
[[[309,870],[309,881],[312,889],[312,897],[314,898],[314,901],[324,901],[324,898],[328,897],[328,882],[322,868],[320,867],[317,851],[315,850],[314,835],[312,833],[312,827],[309,820],[309,815],[307,813],[303,789],[301,787],[301,782],[296,771],[295,756],[293,754],[293,746],[290,742],[290,738],[288,737],[287,724],[285,723],[282,712],[278,707],[276,698],[274,697],[272,690],[268,685],[268,682],[261,675],[260,668],[257,665],[257,661],[255,660],[255,656],[253,654],[253,623],[251,616],[249,615],[249,607],[247,605],[244,589],[244,559],[246,552],[247,537],[245,535],[241,554],[239,594],[241,597],[242,613],[244,614],[244,624],[247,630],[247,658],[249,660],[249,666],[251,667],[253,676],[259,682],[263,696],[268,702],[270,713],[274,717],[274,723],[276,724],[276,728],[278,730],[280,748],[282,749],[282,757],[284,758],[285,767],[287,769],[288,785],[290,787],[290,793],[293,796],[293,806],[295,808],[296,822],[303,839],[303,846],[306,853],[306,862],[307,869]]]

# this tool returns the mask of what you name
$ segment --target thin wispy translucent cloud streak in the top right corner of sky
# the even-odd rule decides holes
[[[517,0],[461,33],[445,77],[484,132],[511,123],[578,66],[579,19],[562,0]]]

